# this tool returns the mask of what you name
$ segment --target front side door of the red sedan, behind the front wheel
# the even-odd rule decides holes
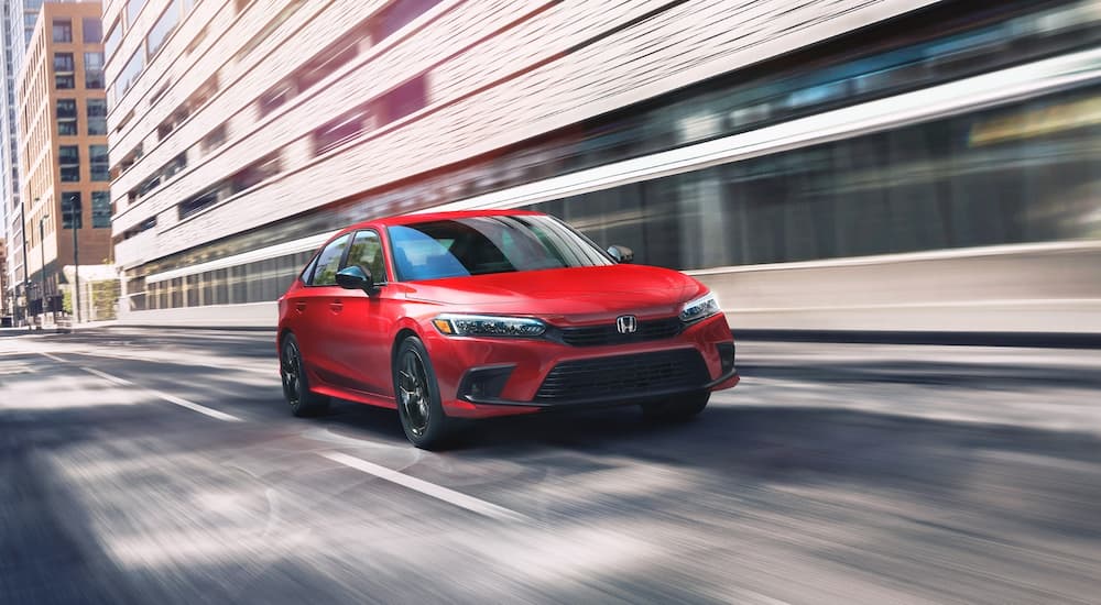
[[[340,268],[358,265],[370,272],[377,287],[344,290],[335,311],[333,353],[340,382],[348,388],[372,395],[390,391],[390,314],[393,288],[389,286],[382,240],[373,229],[356,232]]]

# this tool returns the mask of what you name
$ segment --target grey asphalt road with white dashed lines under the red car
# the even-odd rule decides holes
[[[0,338],[0,603],[1101,603],[1101,352],[749,342],[697,420],[410,447],[271,336]]]

